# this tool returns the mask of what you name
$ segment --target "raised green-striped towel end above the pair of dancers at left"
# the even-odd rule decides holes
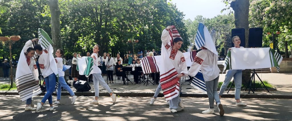
[[[47,32],[45,32],[43,29],[38,29],[39,33],[39,44],[41,44],[41,47],[43,49],[47,48],[49,45],[53,44],[52,39],[49,37]]]

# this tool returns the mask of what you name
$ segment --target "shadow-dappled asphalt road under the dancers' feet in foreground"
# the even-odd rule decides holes
[[[34,97],[40,102],[43,96]],[[0,95],[0,120],[102,120],[102,121],[194,121],[194,120],[230,120],[230,121],[263,121],[291,120],[291,99],[242,99],[248,106],[235,106],[232,98],[223,98],[221,103],[225,110],[220,116],[217,106],[214,114],[202,114],[208,108],[208,98],[182,97],[185,105],[183,111],[171,113],[164,98],[158,98],[154,105],[149,105],[150,97],[118,97],[112,103],[110,97],[100,97],[99,104],[89,104],[94,97],[79,96],[72,105],[68,96],[62,96],[60,105],[53,104],[54,111],[48,111],[48,102],[39,113],[24,111],[25,103],[18,95]],[[53,101],[56,97],[53,96]]]

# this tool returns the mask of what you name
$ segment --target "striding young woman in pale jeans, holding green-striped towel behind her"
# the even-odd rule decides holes
[[[117,100],[116,99],[116,94],[113,94],[112,90],[109,88],[107,83],[105,83],[105,80],[101,76],[101,70],[100,70],[100,68],[98,68],[100,62],[98,60],[98,54],[97,53],[98,53],[99,50],[100,50],[100,46],[99,45],[95,45],[93,47],[93,53],[91,54],[91,57],[93,58],[92,76],[93,76],[93,86],[94,86],[94,90],[95,90],[95,99],[92,102],[90,102],[90,104],[98,104],[98,96],[99,96],[99,85],[98,85],[98,83],[100,83],[100,85],[107,90],[109,95],[111,95],[111,97],[112,97],[112,102],[115,103],[116,100]]]

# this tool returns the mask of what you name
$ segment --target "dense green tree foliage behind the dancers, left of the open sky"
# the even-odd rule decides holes
[[[37,28],[43,28],[51,36],[51,15],[47,0],[10,0],[8,4],[0,13],[3,23],[0,36],[21,36],[13,45],[12,54],[17,58],[25,42],[38,36]],[[101,46],[99,54],[112,52],[114,56],[117,52],[123,56],[127,50],[136,53],[139,48],[159,50],[161,32],[169,25],[176,26],[186,40],[181,50],[190,44],[183,13],[166,0],[59,0],[59,8],[62,48],[70,57],[74,52],[82,55],[92,52],[95,44]],[[131,49],[127,41],[135,39],[139,42],[133,43]],[[7,47],[0,50],[6,51]],[[2,56],[7,53],[1,53]]]

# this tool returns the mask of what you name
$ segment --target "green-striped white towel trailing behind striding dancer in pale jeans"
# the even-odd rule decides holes
[[[76,70],[79,71],[79,75],[89,76],[93,70],[93,58],[92,57],[82,57],[77,58]]]

